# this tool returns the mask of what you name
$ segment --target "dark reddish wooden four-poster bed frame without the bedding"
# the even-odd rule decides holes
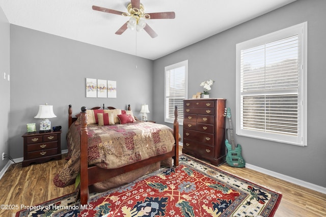
[[[98,109],[100,107],[95,107],[93,109]],[[104,109],[104,105],[103,105]],[[114,107],[108,107],[108,109],[115,109]],[[130,110],[130,105],[128,106]],[[69,105],[68,109],[68,123],[69,127],[77,119],[72,117],[72,107]],[[144,166],[160,162],[162,160],[171,158],[173,159],[173,165],[178,166],[178,156],[179,156],[179,123],[178,123],[178,112],[177,106],[175,106],[174,111],[174,124],[173,124],[173,137],[175,140],[175,145],[172,151],[159,154],[154,157],[150,157],[145,160],[141,160],[120,168],[116,169],[103,169],[97,166],[88,166],[88,129],[87,129],[87,108],[82,107],[79,115],[80,118],[80,204],[87,204],[89,199],[89,185],[96,182],[100,182],[118,175],[121,175],[132,170],[142,168]]]

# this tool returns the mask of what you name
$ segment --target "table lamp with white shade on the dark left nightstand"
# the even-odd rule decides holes
[[[53,106],[40,105],[39,112],[35,116],[35,118],[41,118],[40,122],[40,133],[51,132],[51,121],[48,118],[57,117],[55,113],[53,113]]]

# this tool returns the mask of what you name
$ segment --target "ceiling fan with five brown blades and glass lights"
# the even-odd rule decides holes
[[[124,17],[130,17],[130,19],[117,30],[116,32],[117,35],[121,35],[122,33],[124,33],[127,28],[137,29],[138,31],[141,29],[145,29],[148,35],[150,35],[152,38],[155,38],[157,34],[145,22],[144,19],[174,19],[175,18],[174,12],[145,13],[144,6],[140,3],[140,0],[131,0],[131,2],[127,6],[128,13],[116,11],[108,8],[102,8],[98,6],[93,6],[92,9],[96,11],[122,15]]]

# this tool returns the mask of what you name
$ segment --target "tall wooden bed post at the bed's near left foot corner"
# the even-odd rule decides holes
[[[88,203],[88,131],[87,108],[82,107],[80,112],[80,204]]]

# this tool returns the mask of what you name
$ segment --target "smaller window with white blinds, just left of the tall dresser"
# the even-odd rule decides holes
[[[183,100],[187,99],[188,60],[165,67],[165,122],[174,122],[174,108],[178,106],[178,120],[183,123]]]

